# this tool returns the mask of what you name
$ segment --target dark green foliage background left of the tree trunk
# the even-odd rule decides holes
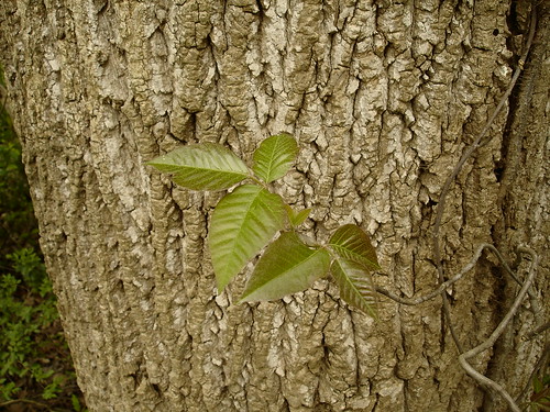
[[[0,410],[85,411],[38,247],[21,146],[0,104]]]

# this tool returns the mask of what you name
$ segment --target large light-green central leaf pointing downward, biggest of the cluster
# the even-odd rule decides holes
[[[239,186],[220,200],[208,235],[219,292],[285,223],[283,199],[258,186]]]

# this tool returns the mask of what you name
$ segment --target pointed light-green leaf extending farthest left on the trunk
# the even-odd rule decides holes
[[[179,147],[147,165],[173,174],[173,180],[193,190],[223,190],[250,177],[246,165],[231,151],[215,143]]]

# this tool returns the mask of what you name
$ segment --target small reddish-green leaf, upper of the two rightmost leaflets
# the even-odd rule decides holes
[[[340,226],[330,238],[329,246],[340,257],[363,265],[365,270],[381,268],[369,236],[355,224]]]

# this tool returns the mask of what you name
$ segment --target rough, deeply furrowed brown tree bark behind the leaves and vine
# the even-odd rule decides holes
[[[482,242],[510,263],[517,246],[534,248],[543,302],[550,42],[538,7],[524,80],[454,182],[441,231],[449,277]],[[425,293],[437,286],[441,187],[506,89],[529,11],[493,0],[3,0],[8,105],[89,409],[503,410],[458,364],[440,298],[382,299],[375,323],[326,280],[277,302],[232,305],[242,279],[217,296],[205,238],[220,193],[183,190],[144,162],[189,142],[250,159],[290,132],[300,155],[278,190],[314,208],[307,229],[322,238],[361,224],[384,268],[375,282]],[[452,288],[465,348],[517,289],[488,256]],[[541,356],[544,335],[520,338],[537,322],[526,302],[474,363],[513,396]]]

